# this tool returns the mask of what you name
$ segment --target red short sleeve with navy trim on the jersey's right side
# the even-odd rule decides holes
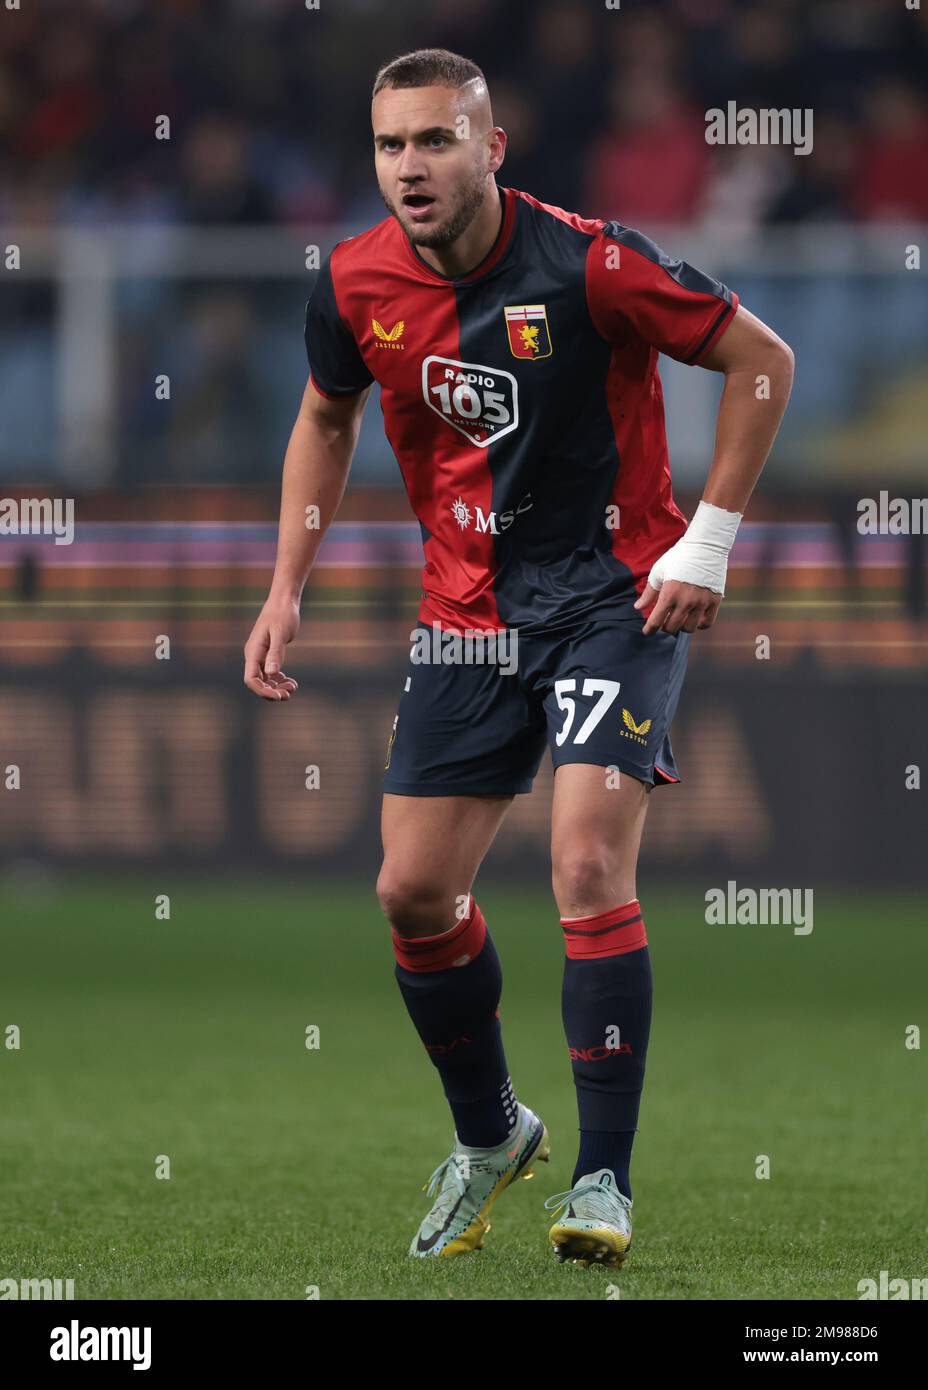
[[[586,297],[607,342],[638,336],[683,363],[696,363],[738,309],[727,285],[621,222],[606,222],[590,245]]]

